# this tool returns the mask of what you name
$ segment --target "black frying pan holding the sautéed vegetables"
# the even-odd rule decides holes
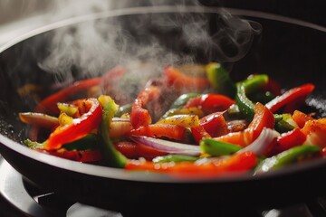
[[[230,9],[229,12],[263,26],[261,34],[253,34],[251,49],[245,55],[234,51],[226,55],[232,57],[229,59],[214,49],[207,52],[205,41],[194,43],[185,40],[182,37],[182,27],[176,25],[177,22],[200,23],[201,19],[205,19],[207,23],[203,24],[207,33],[214,35],[216,20],[221,19],[221,11],[217,8],[156,7],[91,14],[46,26],[9,42],[0,48],[1,155],[26,180],[44,189],[72,201],[123,213],[221,213],[244,210],[253,205],[259,209],[268,209],[305,202],[324,195],[325,159],[288,166],[264,175],[226,175],[209,180],[200,177],[196,180],[180,180],[168,175],[126,172],[100,165],[81,164],[44,155],[21,145],[22,140],[27,137],[27,129],[17,118],[17,113],[32,110],[37,98],[22,97],[17,91],[20,87],[26,83],[41,85],[43,91],[37,97],[43,98],[53,91],[53,84],[63,85],[64,80],[80,80],[100,75],[116,64],[128,62],[128,58],[132,56],[139,59],[149,58],[147,54],[140,55],[137,48],[151,42],[160,42],[164,51],[177,53],[181,57],[173,59],[168,56],[163,59],[167,63],[187,61],[187,58],[182,59],[183,56],[191,56],[197,62],[222,61],[235,80],[243,79],[249,73],[259,72],[273,76],[285,89],[312,82],[316,85],[316,90],[307,99],[309,106],[306,109],[325,117],[326,29],[273,14],[235,9]],[[78,41],[81,40],[78,28],[96,24],[96,28],[103,32],[103,38],[108,39],[105,37],[110,34],[105,33],[106,29],[103,28],[107,23],[119,24],[123,30],[121,33],[127,35],[124,38],[115,38],[114,49],[118,54],[109,53],[109,57],[119,56],[123,49],[130,55],[106,61],[99,59],[108,56],[97,55],[94,57],[97,61],[84,60],[89,61],[88,65],[98,63],[96,69],[88,68],[91,73],[82,73],[85,70],[78,64],[82,61],[77,58],[73,61],[74,64],[69,65],[69,71],[66,71],[69,76],[64,78],[62,71],[51,71],[55,70],[51,68],[51,64],[47,67],[40,64],[51,57],[56,48],[52,46],[52,42],[58,40],[60,35],[71,33],[70,39]],[[66,41],[60,39],[58,41],[64,47],[62,44]],[[91,38],[89,41],[92,42]],[[129,42],[137,42],[139,47],[135,49],[129,46]],[[76,49],[78,52],[88,52],[100,47],[94,42],[93,46],[77,46],[80,50]]]

